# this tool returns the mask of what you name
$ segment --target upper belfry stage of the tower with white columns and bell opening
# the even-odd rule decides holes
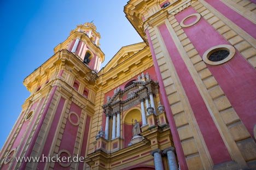
[[[54,48],[54,53],[68,50],[88,65],[91,70],[98,72],[104,60],[104,54],[99,48],[100,38],[101,35],[96,31],[94,23],[86,22],[73,29],[69,37]]]

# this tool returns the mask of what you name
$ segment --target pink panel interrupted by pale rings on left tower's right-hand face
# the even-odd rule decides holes
[[[72,102],[69,113],[75,112],[80,117],[82,108]],[[74,126],[67,119],[67,123],[62,135],[61,144],[59,150],[66,149],[73,155],[75,140],[77,139],[78,126]],[[62,167],[59,163],[55,163],[54,169],[69,169],[69,167]]]

